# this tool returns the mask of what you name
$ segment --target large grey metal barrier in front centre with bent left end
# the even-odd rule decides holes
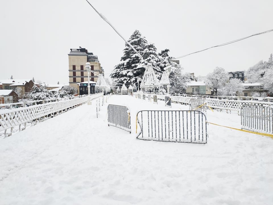
[[[207,143],[206,116],[200,111],[141,110],[137,122],[140,140]]]

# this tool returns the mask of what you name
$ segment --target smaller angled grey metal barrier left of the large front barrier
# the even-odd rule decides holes
[[[114,126],[130,132],[131,134],[131,116],[126,106],[108,105],[108,126]]]

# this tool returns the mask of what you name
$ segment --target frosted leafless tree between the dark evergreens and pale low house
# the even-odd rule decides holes
[[[171,83],[170,93],[185,93],[187,82],[191,81],[189,73],[182,73],[181,68],[176,68],[169,75]]]

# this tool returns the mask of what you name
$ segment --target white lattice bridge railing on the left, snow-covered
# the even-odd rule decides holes
[[[102,96],[103,93],[91,95],[91,99]],[[63,101],[49,102],[45,104],[32,105],[29,107],[14,108],[12,110],[0,110],[0,135],[10,136],[17,130],[24,130],[28,125],[44,121],[68,110],[86,103],[88,97],[78,97]],[[9,133],[7,130],[11,129]],[[16,129],[16,130],[15,130]]]

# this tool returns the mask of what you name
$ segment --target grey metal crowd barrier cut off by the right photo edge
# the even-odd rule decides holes
[[[243,104],[241,107],[242,129],[273,134],[273,107]]]

